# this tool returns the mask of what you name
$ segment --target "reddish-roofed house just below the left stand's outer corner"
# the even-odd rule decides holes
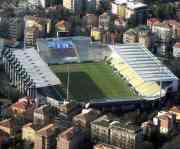
[[[26,120],[33,120],[33,112],[36,108],[36,103],[32,97],[24,97],[10,106],[10,111],[14,115],[22,116]]]

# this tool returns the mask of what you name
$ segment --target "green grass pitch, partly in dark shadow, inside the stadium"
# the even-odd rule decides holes
[[[68,64],[70,70],[70,94],[75,100],[105,97],[130,97],[135,94],[126,81],[104,63]],[[67,64],[51,65],[51,69],[67,85]]]

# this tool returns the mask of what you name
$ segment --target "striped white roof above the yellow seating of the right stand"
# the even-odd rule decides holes
[[[128,64],[144,81],[172,81],[178,78],[142,44],[109,45],[124,63]]]

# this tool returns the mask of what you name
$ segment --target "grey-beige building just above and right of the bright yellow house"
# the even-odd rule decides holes
[[[101,14],[99,16],[99,28],[107,31],[109,29],[110,19],[111,19],[111,16],[107,12],[104,12],[103,14]]]

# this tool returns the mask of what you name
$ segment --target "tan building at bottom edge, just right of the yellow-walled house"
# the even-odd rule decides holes
[[[53,149],[56,147],[57,129],[49,124],[36,132],[34,149]]]

